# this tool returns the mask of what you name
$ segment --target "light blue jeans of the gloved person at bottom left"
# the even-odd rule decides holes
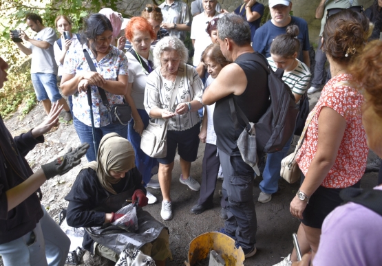
[[[63,266],[70,248],[70,239],[47,214],[36,228],[19,239],[0,245],[5,266]]]

